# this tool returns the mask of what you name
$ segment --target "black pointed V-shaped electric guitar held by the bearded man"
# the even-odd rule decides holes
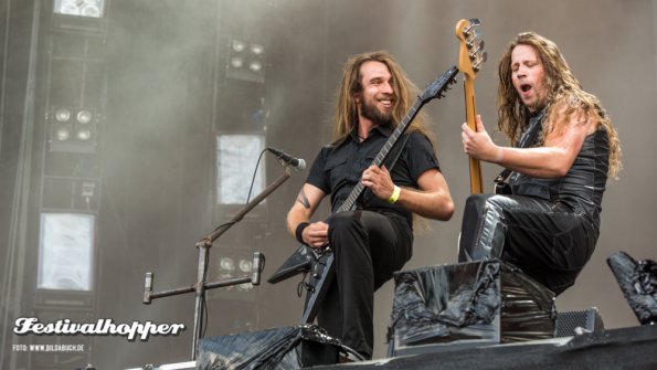
[[[454,78],[457,73],[458,68],[453,66],[424,88],[402,121],[390,135],[383,145],[383,148],[381,148],[370,166],[381,166],[383,163],[393,146],[398,142],[413,118],[415,118],[420,112],[420,108],[434,98],[443,97],[449,85],[455,83]],[[358,182],[337,212],[354,210],[357,201],[364,190],[365,187],[361,182]],[[333,253],[330,245],[322,249],[312,249],[307,245],[299,246],[299,249],[267,279],[267,282],[275,284],[294,275],[307,272],[310,272],[310,277],[306,284],[308,292],[306,294],[306,305],[301,317],[301,324],[310,324],[315,320],[317,311],[319,310],[319,303],[324,299],[326,290],[333,279]]]

